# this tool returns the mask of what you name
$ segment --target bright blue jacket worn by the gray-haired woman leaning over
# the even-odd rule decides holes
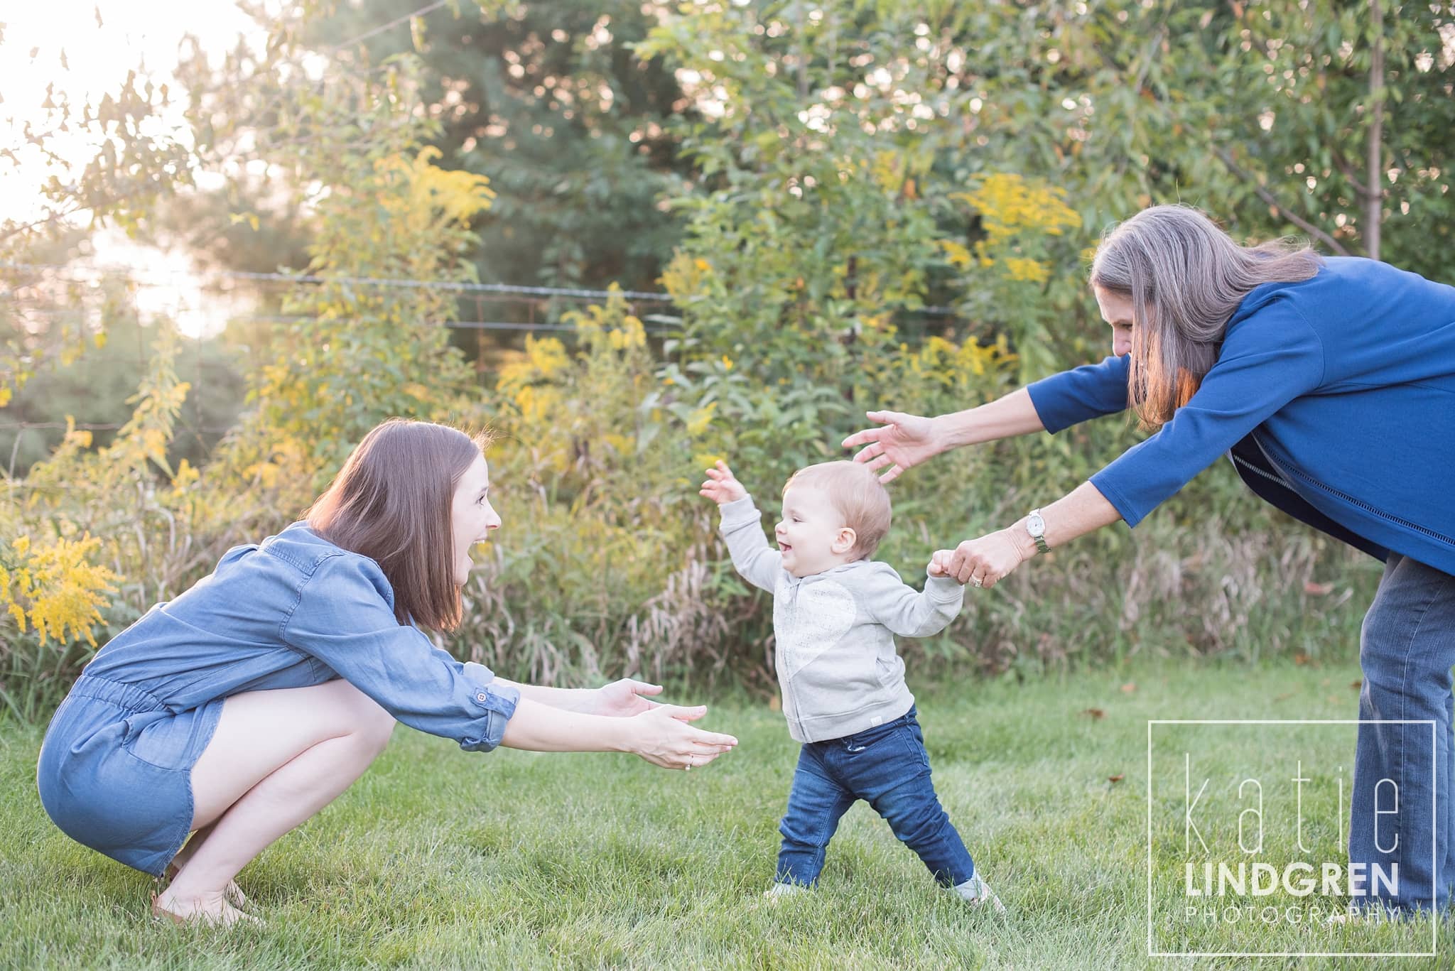
[[[1128,367],[1030,384],[1046,431],[1125,411]],[[1257,287],[1192,399],[1091,483],[1136,526],[1224,453],[1296,518],[1455,574],[1455,287],[1358,258]]]

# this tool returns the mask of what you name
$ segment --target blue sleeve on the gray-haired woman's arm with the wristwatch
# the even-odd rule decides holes
[[[1229,326],[1218,361],[1157,434],[1091,476],[1136,526],[1283,405],[1324,380],[1318,335],[1282,300]]]

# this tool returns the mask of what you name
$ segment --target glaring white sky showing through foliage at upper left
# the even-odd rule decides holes
[[[119,89],[127,71],[144,67],[157,83],[172,82],[182,38],[192,33],[204,51],[223,51],[239,35],[263,35],[233,0],[0,0],[0,144],[16,148],[19,167],[0,160],[0,218],[39,215],[38,189],[47,176],[44,162],[23,153],[23,125],[45,124],[41,108],[48,84],[70,96],[73,109]],[[64,57],[64,61],[63,61]],[[173,90],[176,84],[173,83]],[[182,124],[180,105],[176,124]],[[52,147],[73,162],[84,162],[92,146],[84,138],[55,141]],[[163,274],[176,285],[143,287],[143,313],[164,312],[189,333],[215,330],[226,313],[208,298],[192,275],[185,253],[163,253],[138,246],[116,231],[95,240],[92,262],[132,266]]]

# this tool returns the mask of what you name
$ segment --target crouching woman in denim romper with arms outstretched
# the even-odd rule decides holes
[[[630,751],[668,769],[738,744],[685,724],[703,708],[645,699],[656,686],[515,684],[419,630],[460,623],[470,547],[501,526],[483,445],[384,422],[304,521],[228,550],[86,665],[41,748],[41,802],[79,843],[172,875],[156,916],[246,919],[233,876],[358,779],[396,719],[466,751]]]

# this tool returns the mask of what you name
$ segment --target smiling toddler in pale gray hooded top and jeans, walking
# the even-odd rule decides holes
[[[895,651],[893,635],[927,638],[959,613],[965,588],[943,575],[947,553],[936,555],[924,592],[873,562],[889,531],[889,494],[853,461],[825,461],[789,479],[774,528],[777,552],[726,463],[707,470],[701,495],[719,505],[733,566],[773,592],[783,713],[789,734],[803,744],[768,895],[813,887],[840,818],[864,799],[940,884],[1004,913],[934,793]]]

